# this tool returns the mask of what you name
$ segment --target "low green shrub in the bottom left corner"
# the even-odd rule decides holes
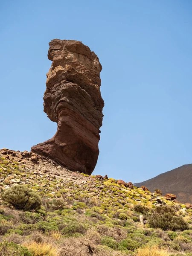
[[[13,242],[0,243],[0,256],[32,256],[26,247]]]

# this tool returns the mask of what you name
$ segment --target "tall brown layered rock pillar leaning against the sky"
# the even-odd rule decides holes
[[[44,112],[57,122],[55,136],[31,148],[73,171],[91,174],[99,155],[104,102],[99,58],[80,41],[54,39],[47,73]]]

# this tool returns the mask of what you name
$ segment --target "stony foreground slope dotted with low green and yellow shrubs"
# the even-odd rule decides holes
[[[192,256],[190,205],[2,149],[0,189],[15,184],[37,192],[41,208],[0,200],[0,256]]]

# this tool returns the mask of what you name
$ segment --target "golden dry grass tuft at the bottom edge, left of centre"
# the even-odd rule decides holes
[[[48,243],[26,243],[24,246],[32,253],[33,256],[58,256],[58,249]]]

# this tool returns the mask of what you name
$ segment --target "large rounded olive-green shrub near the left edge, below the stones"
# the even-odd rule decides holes
[[[30,211],[41,206],[41,197],[24,185],[12,186],[1,193],[1,199],[16,209]]]

